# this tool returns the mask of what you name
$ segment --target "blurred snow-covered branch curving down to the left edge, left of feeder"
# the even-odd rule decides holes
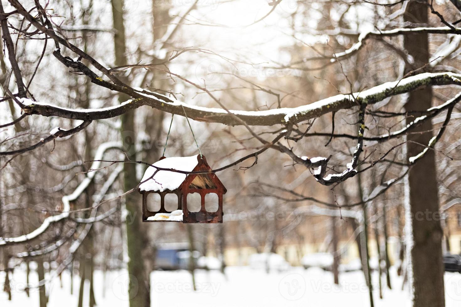
[[[95,153],[95,160],[100,160],[104,153],[111,149],[111,148],[121,148],[121,144],[119,142],[107,142],[103,143],[99,146]],[[98,169],[100,167],[100,161],[95,161],[91,164],[90,169]],[[60,214],[53,215],[53,216],[48,216],[45,220],[43,220],[43,223],[41,226],[36,228],[33,232],[30,232],[28,234],[24,234],[19,237],[0,237],[0,245],[5,245],[7,243],[19,243],[19,242],[25,242],[30,239],[33,239],[43,232],[45,232],[51,224],[54,222],[57,222],[59,220],[63,220],[67,217],[69,217],[69,211],[71,209],[70,202],[76,200],[83,191],[88,187],[88,185],[91,183],[93,178],[95,177],[96,172],[89,172],[87,177],[83,179],[83,181],[80,183],[80,185],[77,186],[77,188],[74,190],[74,192],[70,195],[65,195],[62,197],[62,203],[63,203],[63,211]]]

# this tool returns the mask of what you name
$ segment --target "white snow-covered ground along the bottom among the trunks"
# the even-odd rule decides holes
[[[31,275],[32,282],[37,275]],[[392,286],[384,288],[384,299],[378,297],[377,274],[373,275],[375,285],[375,306],[410,306],[408,288],[402,289],[402,278],[392,271]],[[4,272],[0,273],[0,286],[3,289]],[[12,301],[7,301],[6,293],[0,292],[2,307],[38,306],[38,291],[32,290],[28,298],[21,289],[25,274],[16,270],[12,281]],[[317,268],[304,270],[293,267],[286,272],[254,270],[249,267],[228,267],[226,276],[213,271],[198,271],[197,291],[193,292],[190,274],[186,271],[153,272],[151,275],[152,306],[369,306],[366,284],[361,272],[348,272],[340,275],[340,285],[333,285],[330,272]],[[77,306],[79,279],[74,279],[74,294],[70,295],[70,275],[63,273],[62,284],[59,278],[48,284],[51,289],[48,307]],[[383,278],[383,286],[385,280]],[[106,281],[102,273],[95,272],[95,295],[98,306],[128,307],[128,274],[124,271],[110,272]],[[87,285],[88,286],[88,285]],[[137,285],[141,287],[142,285]],[[446,306],[460,306],[461,274],[445,273]],[[88,296],[84,306],[88,306]]]

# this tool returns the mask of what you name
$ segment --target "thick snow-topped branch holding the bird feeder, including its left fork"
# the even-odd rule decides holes
[[[303,122],[332,111],[352,108],[358,103],[374,104],[384,98],[408,93],[421,86],[450,84],[461,85],[461,74],[454,74],[451,72],[422,73],[402,80],[386,82],[359,93],[339,94],[295,108],[280,108],[262,111],[230,110],[231,114],[223,109],[185,104],[159,93],[126,87],[120,91],[127,93],[134,99],[104,109],[67,109],[47,103],[25,101],[24,98],[21,98],[21,102],[24,101],[28,103],[28,105],[24,106],[24,112],[26,113],[80,120],[112,118],[139,108],[142,105],[149,105],[155,109],[181,116],[184,114],[184,107],[188,117],[196,121],[218,122],[226,125],[242,125],[243,121],[250,126],[272,126],[276,124]],[[237,120],[235,116],[240,120]]]

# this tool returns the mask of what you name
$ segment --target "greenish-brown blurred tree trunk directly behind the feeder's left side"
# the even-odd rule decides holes
[[[126,44],[125,44],[125,27],[123,19],[123,0],[112,0],[113,26],[115,29],[115,65],[125,65],[126,61]],[[124,82],[128,78],[119,75]],[[125,94],[118,95],[120,103],[128,100]],[[127,159],[136,160],[135,146],[135,110],[125,113],[121,116],[121,134],[123,150]],[[124,163],[124,191],[129,191],[137,184],[136,165],[134,163]],[[146,235],[142,228],[140,206],[141,201],[139,194],[135,191],[125,197],[127,214],[131,217],[127,219],[126,234],[128,248],[128,273],[130,278],[129,299],[130,307],[149,307],[150,306],[150,280],[149,272],[142,257],[143,248],[146,246]]]

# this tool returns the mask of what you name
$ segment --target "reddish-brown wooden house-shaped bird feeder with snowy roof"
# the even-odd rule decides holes
[[[176,221],[183,223],[222,223],[223,222],[223,194],[227,192],[224,185],[216,174],[182,174],[174,171],[155,171],[157,168],[169,168],[184,172],[211,171],[205,156],[188,157],[161,157],[159,161],[150,166],[139,186],[142,194],[142,221]],[[160,195],[160,210],[148,210],[148,195],[157,193]],[[198,212],[188,210],[187,196],[198,193],[201,196],[201,209]],[[208,212],[205,209],[205,196],[215,193],[218,196],[218,210]],[[178,203],[177,210],[165,209],[165,196],[176,194]],[[190,205],[189,205],[190,208]],[[182,210],[182,212],[181,212]]]

